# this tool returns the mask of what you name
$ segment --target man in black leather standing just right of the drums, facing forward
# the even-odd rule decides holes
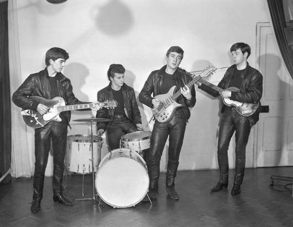
[[[155,198],[158,191],[160,160],[169,136],[166,190],[172,199],[179,199],[179,195],[174,188],[175,177],[185,127],[190,117],[189,107],[193,107],[196,104],[196,91],[194,86],[189,88],[186,85],[192,80],[192,77],[186,71],[179,68],[183,59],[183,53],[184,51],[181,47],[171,46],[166,53],[167,65],[150,74],[139,94],[139,101],[152,109],[158,109],[161,105],[162,100],[156,98],[157,95],[163,95],[161,97],[164,97],[164,94],[169,93],[171,88],[175,88],[174,92],[181,91],[182,94],[176,100],[180,106],[176,106],[177,108],[174,108],[170,115],[164,115],[162,113],[164,120],[156,119],[155,121],[151,136],[149,160],[147,161],[150,177],[149,196],[151,198]],[[169,116],[169,119],[165,119],[165,116]]]

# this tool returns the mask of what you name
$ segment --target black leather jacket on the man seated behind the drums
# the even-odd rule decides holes
[[[125,83],[123,84],[121,89],[122,89],[122,95],[123,95],[123,100],[124,100],[125,115],[135,125],[141,124],[141,116],[140,116],[140,112],[138,109],[134,89],[132,87],[129,87]],[[100,90],[99,92],[97,92],[97,100],[99,102],[104,102],[106,100],[113,100],[113,92],[111,89],[111,82],[107,87],[105,87],[102,90]],[[109,108],[109,109],[102,108],[96,112],[96,118],[107,118],[107,119],[113,120],[114,112],[115,112],[114,108]],[[99,129],[106,130],[106,128],[108,127],[109,124],[111,124],[111,122],[109,122],[107,124],[104,122],[97,123],[96,130],[99,130]]]

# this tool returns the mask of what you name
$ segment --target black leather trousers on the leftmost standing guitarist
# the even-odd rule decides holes
[[[33,199],[43,197],[43,185],[48,155],[53,145],[53,191],[63,193],[64,158],[67,143],[67,125],[50,122],[44,128],[35,129],[35,171],[33,179]]]

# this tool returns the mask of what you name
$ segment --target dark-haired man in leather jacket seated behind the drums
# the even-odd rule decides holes
[[[103,108],[96,112],[96,118],[111,119],[111,122],[98,122],[97,135],[107,131],[110,150],[120,148],[121,136],[142,131],[141,116],[138,109],[134,89],[124,83],[125,68],[120,64],[112,64],[108,70],[109,85],[97,92],[97,100],[116,100],[117,107]]]

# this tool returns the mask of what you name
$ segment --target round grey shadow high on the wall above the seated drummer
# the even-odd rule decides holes
[[[96,27],[105,34],[117,36],[126,33],[133,25],[130,9],[118,0],[111,0],[104,6],[97,6]]]

